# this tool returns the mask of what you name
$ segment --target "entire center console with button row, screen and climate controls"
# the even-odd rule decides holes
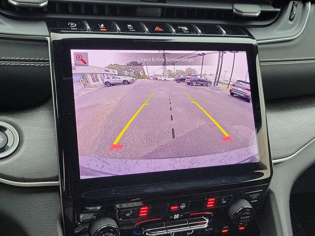
[[[49,27],[65,236],[259,235],[272,162],[245,29]]]

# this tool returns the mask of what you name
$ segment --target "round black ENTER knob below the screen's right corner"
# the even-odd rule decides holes
[[[228,216],[237,225],[247,225],[254,218],[254,208],[245,199],[240,199],[228,209]]]

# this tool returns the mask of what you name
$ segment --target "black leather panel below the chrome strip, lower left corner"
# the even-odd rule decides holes
[[[62,236],[59,186],[15,187],[0,183],[1,236]]]

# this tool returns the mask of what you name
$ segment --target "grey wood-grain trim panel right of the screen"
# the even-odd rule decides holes
[[[273,160],[293,155],[315,138],[315,95],[269,101],[266,109]]]

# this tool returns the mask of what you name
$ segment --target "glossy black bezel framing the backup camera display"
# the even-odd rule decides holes
[[[63,192],[66,195],[81,198],[84,193],[98,189],[129,188],[160,183],[165,183],[165,189],[161,187],[157,191],[167,191],[167,183],[175,186],[177,183],[180,185],[185,182],[198,182],[200,180],[208,181],[209,186],[248,182],[255,179],[259,179],[255,184],[269,182],[272,169],[269,147],[266,150],[268,161],[265,160],[264,162],[80,179],[70,49],[246,51],[256,132],[260,130],[262,119],[256,70],[257,45],[253,43],[220,43],[220,40],[217,42],[194,42],[192,39],[192,37],[187,40],[178,40],[177,37],[167,39],[163,37],[124,38],[124,36],[87,39],[73,36],[67,38],[67,35],[64,35],[52,41],[60,174]],[[265,172],[266,170],[268,171]],[[235,178],[233,179],[233,177]],[[213,179],[218,181],[211,181]]]

